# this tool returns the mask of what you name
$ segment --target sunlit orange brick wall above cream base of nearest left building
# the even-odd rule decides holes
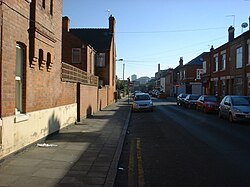
[[[37,4],[34,4],[37,2]],[[61,82],[62,0],[54,0],[53,15],[49,2],[43,9],[41,1],[3,1],[2,61],[1,61],[1,116],[15,114],[16,44],[25,46],[23,112],[53,108],[76,102],[74,84]],[[36,16],[30,20],[35,8]],[[31,16],[32,17],[32,16]],[[34,22],[35,21],[35,22]],[[31,23],[35,23],[32,25]],[[29,40],[31,28],[35,40]],[[32,32],[31,31],[31,32]],[[43,63],[39,64],[39,49],[43,50]],[[47,53],[51,64],[46,67]],[[31,54],[31,55],[30,55]],[[31,60],[31,61],[30,61]],[[4,106],[4,107],[3,107]]]

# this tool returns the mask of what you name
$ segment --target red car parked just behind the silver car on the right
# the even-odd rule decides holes
[[[217,112],[219,109],[219,101],[216,96],[213,95],[202,95],[197,100],[197,110],[203,112]]]

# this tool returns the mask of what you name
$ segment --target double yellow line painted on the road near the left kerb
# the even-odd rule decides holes
[[[145,182],[144,182],[144,171],[142,167],[141,139],[140,138],[136,138],[136,140],[131,141],[128,164],[129,164],[128,186],[139,186],[139,187],[144,186]],[[137,166],[137,170],[136,170],[136,166]],[[138,181],[138,185],[135,185],[136,179]]]

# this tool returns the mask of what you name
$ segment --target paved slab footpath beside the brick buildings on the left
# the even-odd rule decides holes
[[[1,160],[0,186],[113,186],[130,110],[121,99]]]

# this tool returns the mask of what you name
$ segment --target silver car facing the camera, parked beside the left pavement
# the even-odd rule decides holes
[[[149,110],[153,111],[153,101],[147,93],[137,93],[134,97],[133,111]]]

